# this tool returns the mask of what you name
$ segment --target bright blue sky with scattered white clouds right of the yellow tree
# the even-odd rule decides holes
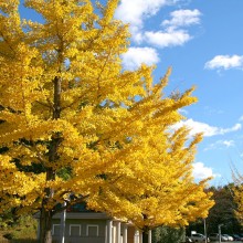
[[[204,133],[194,177],[214,176],[214,186],[232,180],[232,167],[243,172],[242,10],[242,0],[120,0],[116,11],[133,34],[126,68],[156,64],[158,81],[172,66],[168,94],[197,86],[199,102],[181,110],[187,119],[177,126]]]

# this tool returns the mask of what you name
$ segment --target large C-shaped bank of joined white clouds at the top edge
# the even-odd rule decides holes
[[[159,47],[182,45],[191,39],[182,28],[200,23],[199,10],[178,10],[170,13],[171,19],[162,21],[161,31],[145,31],[146,19],[155,17],[166,6],[180,0],[122,0],[115,17],[129,23],[133,40],[137,43],[148,42]],[[180,29],[178,29],[180,28]]]

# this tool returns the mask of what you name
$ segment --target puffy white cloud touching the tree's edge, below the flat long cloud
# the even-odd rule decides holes
[[[159,54],[152,47],[130,47],[122,57],[125,70],[136,70],[141,63],[152,65],[159,62]]]

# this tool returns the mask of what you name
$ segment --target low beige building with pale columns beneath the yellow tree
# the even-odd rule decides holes
[[[53,243],[142,243],[142,233],[133,224],[82,204],[53,216],[52,237]]]

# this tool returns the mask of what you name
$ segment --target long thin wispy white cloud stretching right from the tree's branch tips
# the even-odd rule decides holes
[[[204,137],[224,135],[231,131],[240,130],[242,128],[241,124],[235,124],[233,127],[230,127],[230,128],[221,128],[221,127],[210,126],[205,123],[194,122],[193,119],[188,119],[184,122],[179,122],[178,124],[173,125],[172,129],[178,129],[182,126],[187,126],[190,129],[189,136],[203,133]]]

